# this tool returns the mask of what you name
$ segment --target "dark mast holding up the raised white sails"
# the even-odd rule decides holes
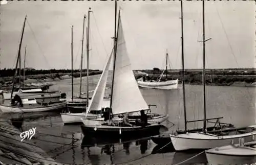
[[[118,35],[118,28],[116,33],[116,14],[117,14],[117,2],[115,1],[114,61],[113,61],[113,76],[112,76],[112,86],[111,86],[110,108],[112,108],[113,86],[114,86],[114,76],[115,76],[115,67],[116,67],[116,46],[117,46],[117,35]],[[118,24],[119,24],[119,17],[120,17],[120,10],[118,13]]]

